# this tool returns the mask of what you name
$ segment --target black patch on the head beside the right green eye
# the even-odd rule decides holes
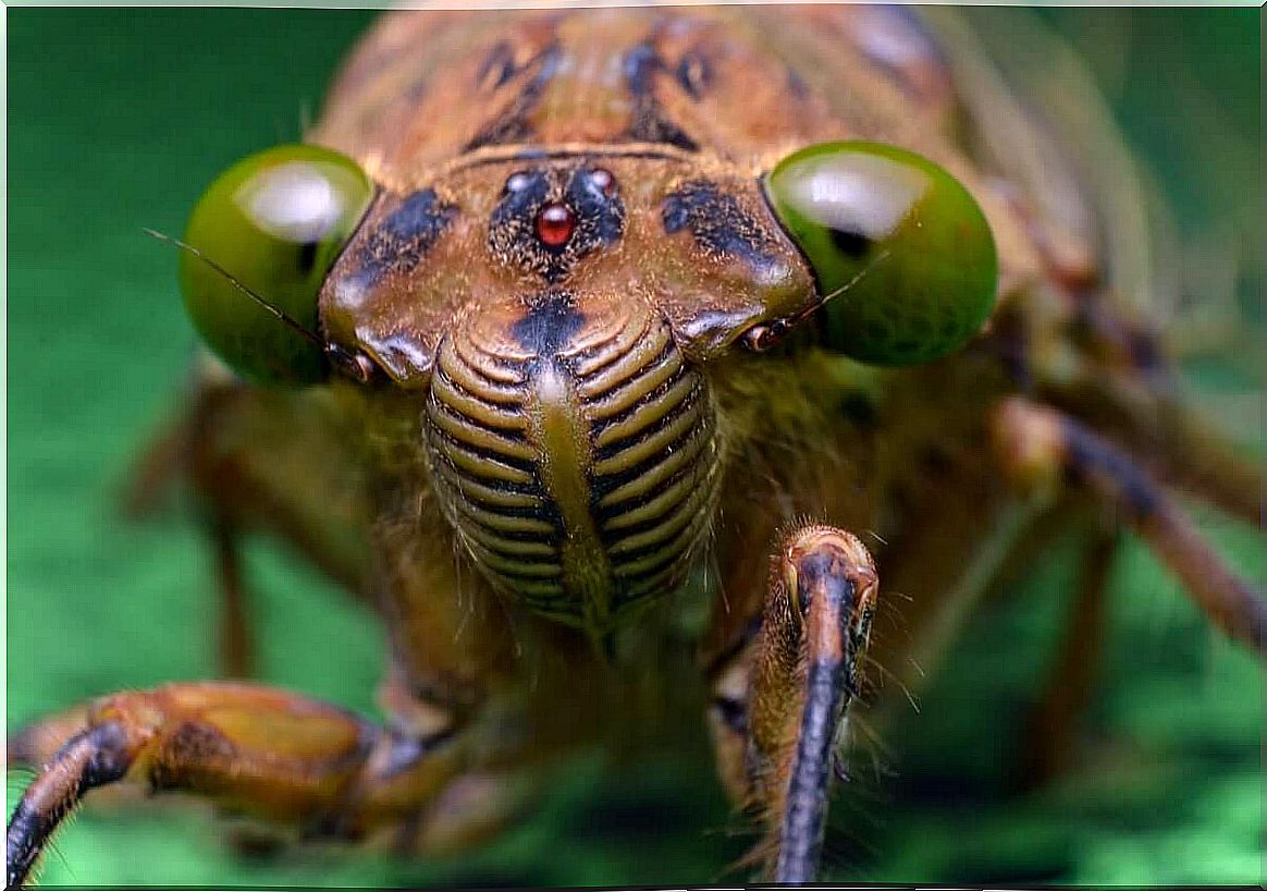
[[[779,262],[774,237],[715,182],[683,184],[665,195],[660,215],[668,234],[685,229],[710,255],[739,257],[754,270]]]

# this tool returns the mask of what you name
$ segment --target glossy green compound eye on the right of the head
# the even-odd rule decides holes
[[[780,161],[765,193],[831,295],[831,348],[877,365],[927,362],[990,317],[998,286],[990,226],[931,161],[879,143],[821,143]]]

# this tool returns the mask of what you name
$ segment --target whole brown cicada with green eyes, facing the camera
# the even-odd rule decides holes
[[[35,722],[8,882],[106,787],[474,845],[566,756],[687,716],[750,863],[811,882],[858,729],[1071,531],[1038,775],[1119,530],[1261,653],[1261,596],[1172,494],[1253,521],[1258,470],[1175,398],[1110,262],[1123,220],[1045,137],[945,15],[384,16],[304,142],[169,239],[212,355],[134,490],[207,518],[227,675],[264,532],[381,620],[381,717],[215,680]]]

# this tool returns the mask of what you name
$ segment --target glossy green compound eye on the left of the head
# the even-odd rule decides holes
[[[229,167],[203,193],[185,241],[310,332],[317,294],[374,196],[355,161],[319,146],[277,146]],[[323,380],[322,348],[196,255],[180,255],[185,308],[234,371],[262,384]]]

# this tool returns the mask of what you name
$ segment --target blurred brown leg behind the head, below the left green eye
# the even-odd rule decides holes
[[[123,508],[156,514],[169,490],[194,495],[214,561],[217,655],[226,678],[255,666],[247,533],[266,532],[353,593],[365,589],[364,531],[346,447],[319,397],[245,386],[213,360],[194,370],[186,405],[132,468]]]

